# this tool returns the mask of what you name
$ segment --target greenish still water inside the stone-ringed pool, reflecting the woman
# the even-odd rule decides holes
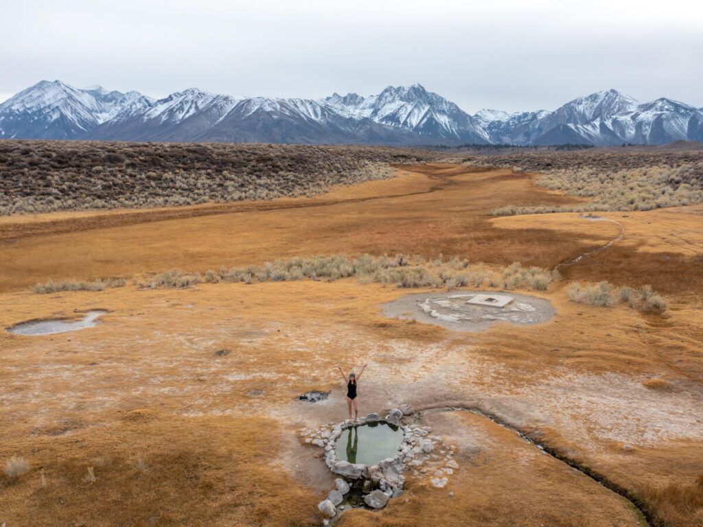
[[[401,429],[385,422],[348,428],[337,438],[337,459],[356,464],[376,464],[398,455],[403,438]]]

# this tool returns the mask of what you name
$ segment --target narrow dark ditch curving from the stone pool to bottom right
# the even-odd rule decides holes
[[[418,412],[415,412],[415,414],[413,414],[413,417],[415,417],[415,420],[417,420],[422,419],[425,415],[432,415],[442,412],[471,412],[472,414],[485,417],[486,419],[490,419],[491,422],[494,422],[495,424],[498,424],[499,426],[514,432],[515,434],[520,436],[520,438],[522,438],[524,441],[527,441],[531,445],[534,445],[543,453],[546,453],[553,457],[555,460],[567,464],[569,465],[569,467],[578,470],[579,472],[581,472],[581,474],[588,476],[588,478],[592,479],[596,483],[599,483],[601,486],[607,488],[608,490],[612,491],[613,493],[616,493],[620,497],[630,502],[632,507],[636,509],[636,511],[638,511],[638,513],[642,516],[642,519],[645,521],[647,526],[665,527],[664,522],[659,520],[657,516],[655,516],[654,513],[652,513],[652,511],[647,507],[647,505],[642,500],[640,500],[639,497],[634,495],[630,490],[608,479],[608,477],[604,474],[600,474],[600,472],[595,471],[590,467],[587,467],[586,465],[560,453],[555,448],[552,448],[549,445],[542,443],[541,441],[530,436],[526,432],[518,429],[517,427],[512,426],[512,424],[505,422],[497,415],[485,412],[484,410],[472,406],[460,405],[425,408],[423,410],[418,410]]]

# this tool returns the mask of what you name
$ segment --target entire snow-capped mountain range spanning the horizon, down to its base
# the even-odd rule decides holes
[[[420,84],[378,95],[319,99],[231,97],[190,88],[154,100],[101,86],[42,81],[0,104],[0,138],[271,143],[553,145],[703,141],[703,110],[615,90],[552,112],[469,115]]]

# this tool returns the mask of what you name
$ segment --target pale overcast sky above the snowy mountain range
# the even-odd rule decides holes
[[[476,4],[476,5],[475,5]],[[0,100],[41,79],[154,97],[378,93],[475,112],[614,88],[703,107],[703,2],[6,0]]]

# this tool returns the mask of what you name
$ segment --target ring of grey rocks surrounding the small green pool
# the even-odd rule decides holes
[[[312,441],[325,449],[325,464],[330,470],[342,476],[335,480],[336,488],[319,503],[318,509],[323,514],[334,517],[344,510],[339,506],[344,500],[344,495],[351,489],[349,481],[352,485],[361,484],[363,501],[372,509],[382,509],[391,497],[397,497],[403,493],[405,484],[403,471],[407,465],[416,456],[432,452],[432,439],[427,437],[427,434],[432,431],[430,427],[401,424],[401,419],[413,414],[413,411],[411,405],[399,405],[399,408],[393,408],[383,419],[378,414],[371,413],[359,419],[359,422],[344,421],[335,424],[330,431],[325,431],[323,438]],[[399,445],[398,454],[373,465],[349,463],[346,460],[337,459],[335,446],[342,432],[369,423],[387,423],[401,429],[404,437]]]

